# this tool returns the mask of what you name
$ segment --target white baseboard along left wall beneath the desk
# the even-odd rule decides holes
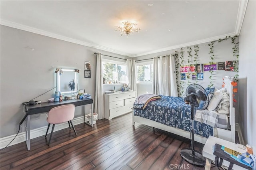
[[[85,121],[88,121],[88,119],[86,118]],[[84,123],[84,116],[74,118],[72,120],[72,123],[73,123],[73,125],[78,125],[80,123]],[[46,133],[47,127],[48,126],[40,127],[40,128],[36,128],[36,129],[30,130],[30,139],[37,138],[39,136],[44,136],[45,133]],[[66,123],[56,124],[56,126],[54,128],[54,132],[56,132],[58,130],[61,130],[61,129],[64,129],[64,128],[68,128],[68,123],[67,122]],[[50,132],[51,132],[51,127],[50,127],[48,133],[50,133]],[[3,137],[3,138],[0,138],[0,148],[6,147],[12,141],[12,139],[15,136],[16,136],[16,134],[13,134],[11,136],[6,136],[6,137]],[[18,144],[18,143],[24,142],[25,140],[26,140],[26,132],[20,132],[20,133],[18,133],[16,138],[12,141],[12,143],[9,146],[12,146],[14,144]]]

